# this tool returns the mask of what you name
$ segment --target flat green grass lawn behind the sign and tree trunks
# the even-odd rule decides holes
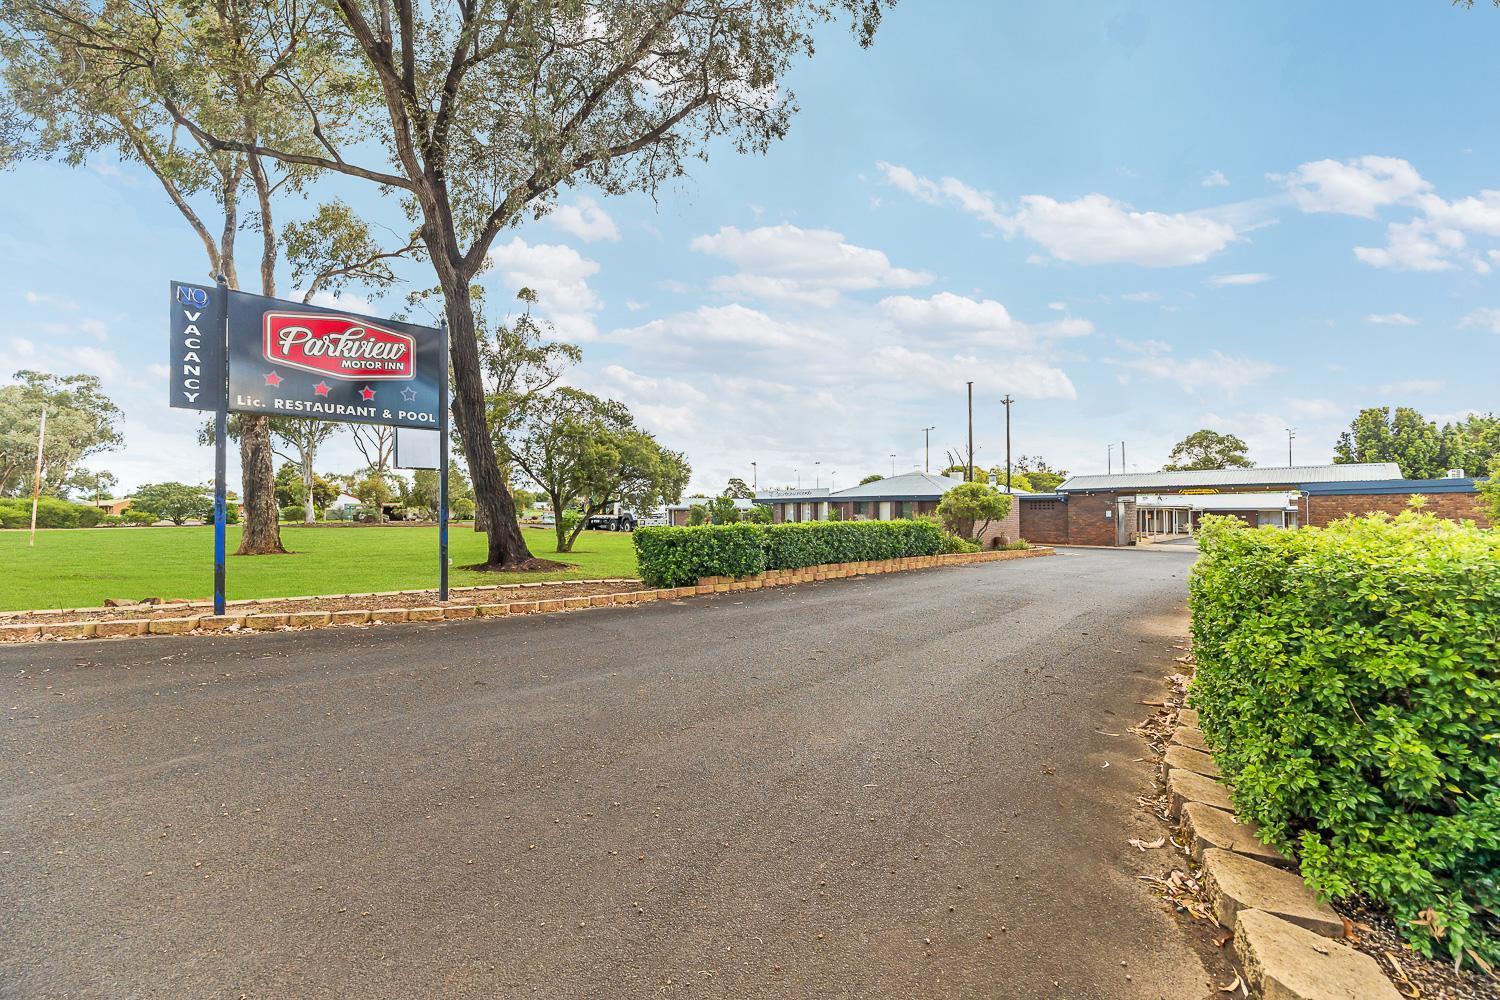
[[[484,558],[472,525],[448,531],[452,586],[636,576],[628,534],[585,531],[558,555],[550,529],[525,531],[532,555],[570,562],[558,573],[476,573]],[[213,597],[213,528],[76,528],[0,531],[0,610],[98,607],[106,597]],[[228,549],[240,544],[230,526]],[[436,588],[436,528],[303,528],[282,525],[285,556],[230,556],[230,600]]]

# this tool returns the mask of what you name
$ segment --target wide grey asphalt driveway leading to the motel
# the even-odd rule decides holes
[[[1191,559],[0,648],[0,996],[1208,997]]]

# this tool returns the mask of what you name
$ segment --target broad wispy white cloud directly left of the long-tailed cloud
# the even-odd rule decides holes
[[[843,292],[915,288],[933,280],[932,274],[894,267],[880,250],[846,243],[840,232],[784,222],[750,231],[724,226],[694,238],[692,249],[740,268],[710,285],[735,297],[828,307]]]

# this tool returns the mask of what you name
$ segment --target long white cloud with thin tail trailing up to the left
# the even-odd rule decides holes
[[[1137,211],[1107,195],[1058,201],[1023,195],[1006,213],[992,195],[952,177],[932,180],[880,162],[885,181],[928,204],[954,204],[1006,237],[1024,235],[1070,264],[1200,264],[1234,240],[1234,228],[1208,214]]]

